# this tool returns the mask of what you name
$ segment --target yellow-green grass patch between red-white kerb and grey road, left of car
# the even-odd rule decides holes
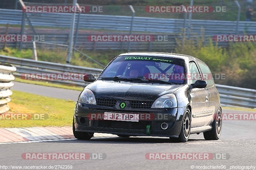
[[[12,91],[12,101],[7,113],[44,114],[44,120],[3,120],[0,115],[0,128],[36,126],[72,126],[75,101],[39,96]],[[28,116],[29,117],[29,116]]]

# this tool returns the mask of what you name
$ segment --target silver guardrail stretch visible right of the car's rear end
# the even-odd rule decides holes
[[[216,87],[222,104],[256,108],[256,90],[227,85]]]

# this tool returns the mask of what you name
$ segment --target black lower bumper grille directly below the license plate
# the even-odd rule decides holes
[[[111,121],[111,120],[98,121],[98,127],[102,127],[102,128],[146,130],[147,125],[151,125],[151,122],[148,122],[148,121],[127,122],[127,121]]]

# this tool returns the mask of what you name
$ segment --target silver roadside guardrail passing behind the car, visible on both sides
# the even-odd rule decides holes
[[[30,59],[23,59],[17,57],[10,57],[0,55],[0,62],[11,63],[17,67],[16,75],[22,73],[91,73],[98,75],[102,70],[95,68],[87,68],[81,66],[51,63],[44,61],[35,61]],[[59,83],[76,84],[86,86],[82,79],[77,80],[49,80]],[[256,90],[246,89],[240,87],[233,87],[227,85],[216,85],[220,93],[220,102],[222,104],[242,106],[242,107],[256,107]]]

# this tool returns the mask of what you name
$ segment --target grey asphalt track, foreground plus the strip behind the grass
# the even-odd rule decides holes
[[[31,92],[48,97],[76,100],[79,94],[77,91],[65,89],[17,82],[14,82],[14,84],[14,90]],[[223,113],[255,112],[223,109]],[[3,166],[8,166],[8,168],[9,166],[34,166],[30,167],[30,169],[36,169],[35,166],[47,166],[47,169],[50,169],[49,166],[57,166],[56,169],[60,169],[59,165],[72,165],[72,169],[79,170],[256,169],[255,124],[256,120],[224,120],[221,137],[217,141],[206,141],[204,140],[203,134],[200,133],[199,135],[190,135],[187,143],[170,143],[167,137],[95,137],[88,141],[75,139],[0,144],[0,169],[3,169]],[[26,157],[22,158],[22,154],[24,155],[24,153],[86,153],[86,155],[89,153],[90,156],[86,157],[86,160],[30,160],[26,159]],[[93,159],[97,153],[103,159]],[[149,155],[149,153],[154,153],[151,154],[150,158],[160,159],[147,159],[148,157],[146,158],[145,155]],[[163,153],[161,155],[162,157],[158,157],[156,153]],[[174,156],[167,156],[167,159],[165,159],[165,153],[172,153]],[[195,156],[196,153],[204,153],[206,155],[205,159],[201,159],[199,155]],[[92,157],[92,154],[94,157]],[[195,159],[190,159],[191,154],[195,156]],[[183,158],[187,159],[180,159],[181,157],[179,155],[183,155]],[[211,155],[214,157],[212,158]],[[25,168],[11,167],[10,169]]]

